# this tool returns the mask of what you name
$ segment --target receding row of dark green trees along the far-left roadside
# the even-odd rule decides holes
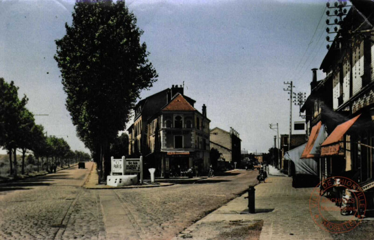
[[[0,78],[0,146],[8,150],[10,174],[17,176],[17,149],[22,152],[21,173],[25,174],[25,156],[28,150],[34,153],[39,171],[39,159],[44,170],[49,165],[70,164],[73,161],[89,160],[88,153],[72,151],[69,144],[56,136],[47,137],[44,127],[35,123],[34,114],[26,108],[26,95],[18,97],[18,87]],[[12,161],[13,156],[13,161]],[[49,161],[50,160],[50,161]]]

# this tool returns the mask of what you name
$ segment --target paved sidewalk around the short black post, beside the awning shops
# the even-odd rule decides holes
[[[269,170],[276,173],[270,166]],[[240,232],[240,229],[245,229],[247,234],[236,235],[235,239],[332,239],[310,216],[309,198],[313,188],[293,188],[292,178],[285,176],[270,176],[255,188],[255,214],[247,213],[248,199],[244,197],[248,193],[245,193],[173,239],[227,239],[230,232]],[[341,220],[331,217],[331,220]],[[261,224],[261,232],[256,231]]]

